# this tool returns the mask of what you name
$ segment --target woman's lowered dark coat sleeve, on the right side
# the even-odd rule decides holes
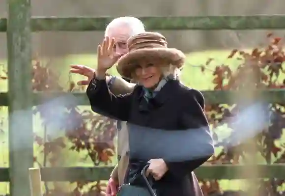
[[[191,157],[184,162],[166,162],[169,172],[178,178],[198,168],[214,154],[213,139],[204,113],[204,97],[195,89],[189,89],[186,94],[180,120],[182,127],[195,136],[190,139]]]

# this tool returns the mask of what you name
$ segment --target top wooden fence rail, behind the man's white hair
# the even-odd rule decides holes
[[[285,15],[257,16],[183,16],[183,17],[139,17],[152,30],[245,30],[283,29]],[[113,17],[33,17],[32,31],[90,31],[105,30]],[[7,20],[0,19],[0,32],[7,29]]]

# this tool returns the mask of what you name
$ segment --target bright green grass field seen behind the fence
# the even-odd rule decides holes
[[[187,55],[187,61],[185,63],[181,80],[182,83],[191,86],[193,88],[197,88],[199,90],[206,90],[206,89],[213,89],[213,75],[212,71],[216,65],[219,64],[229,64],[231,67],[236,67],[240,61],[237,59],[228,59],[227,56],[229,55],[230,51],[204,51],[204,52],[197,52],[197,53],[190,53]],[[200,71],[200,68],[197,65],[204,64],[209,57],[214,58],[215,60],[209,65],[209,69],[206,69],[204,73]],[[47,62],[49,59],[43,59],[43,63]],[[0,63],[6,64],[4,60],[0,60]],[[72,56],[65,56],[62,58],[55,58],[51,59],[50,63],[53,65],[55,70],[60,73],[60,83],[62,85],[68,82],[68,70],[70,64],[84,64],[90,67],[95,67],[96,65],[96,56],[95,55],[72,55]],[[115,68],[110,70],[111,74],[117,75]],[[83,77],[72,75],[72,79],[74,81],[78,81]],[[0,88],[1,91],[7,90],[7,83],[5,81],[0,81]],[[84,107],[89,108],[88,106]],[[3,118],[3,124],[0,126],[0,129],[4,130],[4,133],[1,133],[0,136],[0,167],[8,167],[9,160],[8,160],[8,125],[7,125],[7,108],[2,107],[0,109],[0,118]],[[39,116],[34,117],[34,131],[39,135],[43,135],[43,126],[41,125],[41,119]],[[221,129],[221,133],[224,135],[224,129]],[[21,130],[19,130],[21,132]],[[21,133],[25,136],[25,133]],[[58,136],[63,133],[58,133]],[[35,155],[38,155],[40,161],[42,162],[42,156],[40,153],[41,149],[37,146],[34,147]],[[217,149],[217,152],[219,149]],[[77,152],[71,152],[68,149],[64,149],[62,152],[62,157],[60,160],[61,166],[66,167],[74,167],[74,166],[92,166],[92,162],[90,160],[83,161],[84,158],[83,154],[79,154]],[[114,158],[115,163],[115,158]],[[223,189],[227,190],[236,190],[243,186],[243,183],[240,180],[222,180],[221,185]],[[4,194],[8,192],[8,183],[0,183],[0,194]]]

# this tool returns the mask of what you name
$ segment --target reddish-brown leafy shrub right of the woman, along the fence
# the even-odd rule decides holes
[[[235,69],[227,64],[219,64],[212,71],[215,84],[214,90],[238,90],[240,91],[241,103],[225,105],[215,104],[206,105],[205,111],[209,122],[216,128],[218,125],[226,124],[231,129],[231,135],[227,138],[235,139],[236,134],[247,134],[248,130],[236,130],[232,127],[231,119],[240,113],[244,108],[256,102],[259,95],[255,94],[255,90],[263,89],[281,89],[285,86],[284,70],[282,63],[285,61],[285,53],[283,43],[280,37],[275,37],[272,33],[267,35],[268,45],[260,48],[255,48],[251,52],[232,50],[228,58],[236,58],[241,63]],[[200,65],[201,72],[212,70],[210,65],[214,59],[210,58],[204,65]],[[242,140],[234,145],[227,140],[220,140],[217,146],[223,149],[221,152],[213,156],[208,162],[211,164],[240,164],[245,163],[252,158],[246,155],[258,153],[267,164],[285,163],[285,152],[282,148],[283,144],[277,145],[283,129],[285,128],[284,103],[268,103],[266,107],[271,113],[270,125],[256,132],[254,138]],[[218,140],[214,133],[214,138]],[[252,151],[254,148],[256,151]],[[274,156],[274,157],[272,157]],[[275,161],[271,161],[275,159]],[[202,189],[205,196],[209,193],[216,195],[222,194],[219,182],[217,180],[206,181],[201,180]],[[278,192],[283,185],[284,180],[269,179],[260,180],[257,187],[258,195],[274,195],[280,196],[284,193]],[[210,194],[210,195],[211,195]],[[230,193],[225,193],[228,196]],[[235,194],[239,195],[237,192]],[[234,195],[233,193],[231,195]]]

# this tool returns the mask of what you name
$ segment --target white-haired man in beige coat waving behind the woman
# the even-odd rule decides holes
[[[105,30],[105,37],[115,39],[114,56],[115,61],[128,52],[127,40],[129,37],[145,32],[142,21],[134,17],[119,17],[114,19]],[[114,61],[114,63],[115,63]],[[87,77],[86,80],[79,81],[78,85],[88,85],[94,77],[95,70],[84,65],[72,65],[71,73],[77,73]],[[106,81],[114,95],[126,94],[133,91],[136,84],[129,83],[127,80],[108,76]],[[115,196],[118,186],[123,182],[124,175],[128,166],[128,134],[126,122],[117,122],[118,132],[118,164],[111,173],[107,186],[107,196]],[[120,131],[121,130],[121,131]]]

